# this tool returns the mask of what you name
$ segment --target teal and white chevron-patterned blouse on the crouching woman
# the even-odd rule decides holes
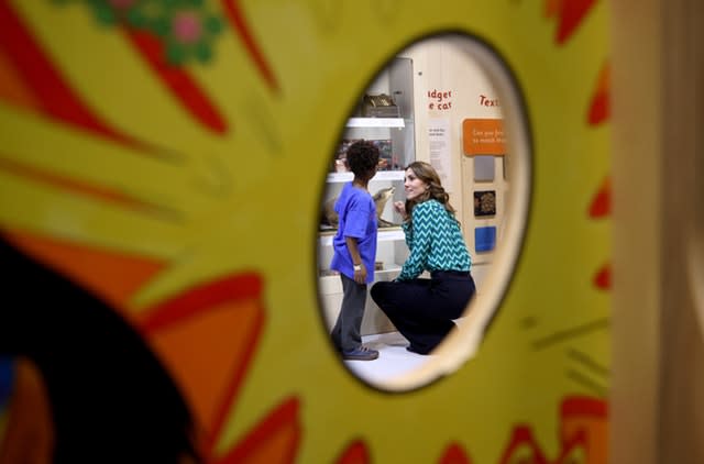
[[[470,270],[472,258],[460,224],[438,200],[416,205],[411,223],[402,225],[410,254],[396,280],[414,279],[425,269]]]

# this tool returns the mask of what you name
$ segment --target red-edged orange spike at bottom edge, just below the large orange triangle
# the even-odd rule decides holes
[[[293,464],[301,437],[298,398],[268,415],[233,450],[213,464]]]

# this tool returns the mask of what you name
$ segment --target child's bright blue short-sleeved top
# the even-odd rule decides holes
[[[334,254],[330,268],[354,278],[352,256],[345,242],[346,236],[356,239],[362,263],[366,267],[366,283],[374,281],[374,261],[376,258],[376,205],[369,191],[348,183],[342,187],[340,198],[334,203],[339,216],[338,232],[332,239]]]

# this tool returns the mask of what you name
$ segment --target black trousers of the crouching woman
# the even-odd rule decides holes
[[[409,350],[430,353],[454,328],[474,295],[470,273],[438,270],[431,278],[378,281],[372,299],[410,342]]]

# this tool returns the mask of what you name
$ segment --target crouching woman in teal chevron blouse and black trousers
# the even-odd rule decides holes
[[[372,299],[408,340],[407,350],[429,354],[455,327],[475,292],[468,251],[449,195],[436,169],[415,162],[406,168],[404,218],[409,255],[393,281],[378,281]],[[430,278],[419,276],[428,270]]]

